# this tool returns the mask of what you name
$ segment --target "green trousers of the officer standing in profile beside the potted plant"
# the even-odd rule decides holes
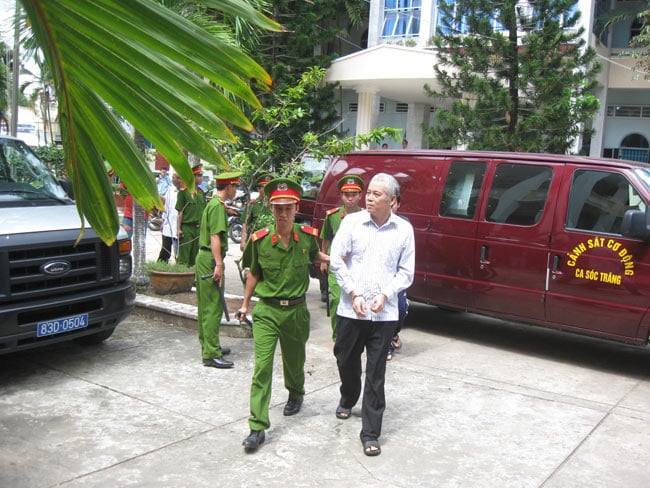
[[[212,253],[201,250],[196,257],[196,298],[198,301],[198,329],[201,357],[203,359],[220,358],[219,326],[223,315],[223,305],[219,298],[219,288],[212,280],[214,265]],[[201,276],[210,275],[202,280]]]

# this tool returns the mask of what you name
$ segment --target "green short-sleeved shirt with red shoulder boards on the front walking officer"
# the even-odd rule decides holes
[[[263,237],[248,241],[250,270],[259,278],[255,288],[258,297],[297,298],[307,292],[309,263],[318,258],[318,242],[316,236],[301,230],[303,227],[293,224],[293,236],[287,248],[276,234],[275,226]]]

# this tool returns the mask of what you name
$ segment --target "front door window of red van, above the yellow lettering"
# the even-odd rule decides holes
[[[625,211],[645,211],[645,207],[645,202],[623,175],[579,169],[571,182],[566,227],[620,235]]]

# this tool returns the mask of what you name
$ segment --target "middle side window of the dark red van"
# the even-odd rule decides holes
[[[535,225],[542,218],[552,178],[548,166],[500,164],[490,188],[486,220]]]

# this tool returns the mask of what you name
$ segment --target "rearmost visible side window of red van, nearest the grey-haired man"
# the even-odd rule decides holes
[[[485,167],[485,163],[451,163],[440,202],[441,216],[474,218]]]

